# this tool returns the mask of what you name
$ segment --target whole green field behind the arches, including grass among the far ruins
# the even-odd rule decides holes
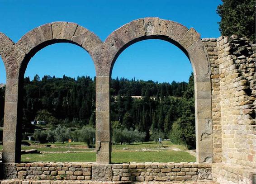
[[[69,143],[46,143],[38,144],[32,143],[31,146],[22,146],[22,150],[37,149],[38,151],[93,151],[94,149],[86,148],[83,142]],[[46,147],[51,145],[51,147]],[[125,148],[125,150],[123,150]],[[161,149],[159,149],[161,148]],[[164,148],[164,149],[162,149]],[[182,151],[173,151],[171,148],[179,148]],[[0,150],[2,146],[0,145]],[[128,150],[127,150],[128,149]],[[138,149],[154,149],[155,151],[136,151]],[[157,151],[158,150],[158,151]],[[112,162],[194,162],[196,158],[190,155],[185,146],[175,145],[169,141],[163,142],[163,147],[157,145],[155,142],[135,142],[133,145],[113,145],[112,146]],[[42,154],[24,154],[21,156],[23,162],[35,161],[74,161],[74,162],[95,162],[95,152],[77,152],[77,153],[42,153]]]

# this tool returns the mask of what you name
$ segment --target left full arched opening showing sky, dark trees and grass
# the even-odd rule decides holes
[[[95,66],[90,55],[74,44],[57,43],[26,63],[19,106],[21,161],[95,161]],[[31,149],[38,153],[26,152]]]

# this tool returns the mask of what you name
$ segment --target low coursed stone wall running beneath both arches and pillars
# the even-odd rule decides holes
[[[212,165],[197,163],[123,163],[35,162],[15,165],[20,180],[80,180],[80,181],[196,181],[212,180]],[[7,179],[8,177],[5,177]]]

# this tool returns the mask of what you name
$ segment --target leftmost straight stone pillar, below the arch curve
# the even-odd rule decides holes
[[[7,79],[3,134],[3,163],[20,162],[21,137],[18,121],[19,79]]]

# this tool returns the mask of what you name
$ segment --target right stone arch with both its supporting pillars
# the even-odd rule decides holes
[[[119,54],[135,42],[161,39],[179,47],[189,58],[195,83],[197,162],[213,160],[211,80],[208,53],[194,28],[159,18],[137,19],[118,28],[95,48],[96,64],[96,150],[98,162],[111,162],[109,135],[109,80]],[[104,97],[104,98],[103,98]]]

